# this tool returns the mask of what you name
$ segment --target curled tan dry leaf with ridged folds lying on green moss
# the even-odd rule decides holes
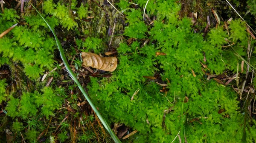
[[[116,57],[101,57],[95,53],[82,52],[83,65],[113,72],[117,67]]]

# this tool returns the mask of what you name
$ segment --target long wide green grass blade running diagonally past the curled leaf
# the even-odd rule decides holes
[[[31,3],[32,5],[32,3]],[[33,6],[33,5],[32,5]],[[33,6],[34,7],[34,6]],[[34,7],[35,8],[35,7]],[[42,19],[46,22],[46,24],[48,25],[48,27],[50,28],[50,30],[52,31],[52,34],[55,37],[57,46],[58,46],[58,50],[60,51],[60,55],[61,55],[61,59],[64,62],[64,65],[67,69],[67,71],[70,73],[70,76],[72,77],[72,79],[75,81],[75,83],[77,84],[77,86],[79,87],[79,89],[81,90],[81,93],[83,93],[84,97],[86,98],[86,100],[88,101],[88,103],[90,104],[90,106],[92,107],[93,111],[96,113],[96,115],[98,116],[99,120],[102,122],[103,126],[106,128],[106,130],[108,131],[108,133],[111,135],[111,137],[113,138],[113,140],[115,141],[115,143],[121,143],[121,141],[118,139],[118,137],[116,137],[116,135],[114,134],[114,132],[112,131],[111,127],[108,125],[108,123],[106,122],[106,120],[102,117],[102,115],[99,113],[99,111],[97,110],[97,108],[94,106],[93,102],[90,100],[89,96],[87,95],[87,93],[85,92],[84,88],[81,86],[81,84],[79,83],[79,81],[76,79],[75,74],[73,73],[73,71],[70,68],[70,65],[67,62],[66,56],[64,54],[64,50],[61,46],[60,41],[58,40],[58,37],[56,36],[56,34],[54,33],[53,29],[51,28],[51,26],[48,24],[48,22],[44,19],[44,17],[39,13],[39,11],[35,8],[35,10],[38,12],[38,14],[42,17]]]

